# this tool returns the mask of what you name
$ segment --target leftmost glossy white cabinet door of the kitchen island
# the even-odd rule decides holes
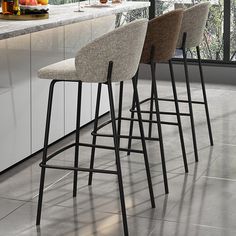
[[[0,171],[31,154],[30,36],[0,41]]]

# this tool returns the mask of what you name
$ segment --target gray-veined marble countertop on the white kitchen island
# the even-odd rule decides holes
[[[83,12],[75,12],[78,4],[50,5],[49,19],[32,21],[0,20],[0,40],[12,38],[24,34],[55,28],[58,26],[73,24],[80,21],[95,19],[116,13],[127,12],[135,9],[149,7],[149,2],[127,1],[121,4],[113,4],[109,7],[90,7],[82,2]]]

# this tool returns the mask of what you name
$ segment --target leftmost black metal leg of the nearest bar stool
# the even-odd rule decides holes
[[[49,129],[50,129],[51,111],[52,111],[52,100],[53,100],[53,89],[54,89],[54,85],[55,85],[56,82],[57,82],[56,80],[53,80],[50,84],[50,87],[49,87],[48,108],[47,108],[46,127],[45,127],[45,136],[44,136],[44,147],[43,147],[43,157],[42,157],[42,163],[44,165],[46,164],[46,161],[47,161],[48,138],[49,138]],[[36,225],[40,225],[40,221],[41,221],[45,171],[46,171],[45,167],[42,167],[41,176],[40,176],[40,186],[39,186],[39,198],[38,198],[38,210],[37,210],[37,217],[36,217]]]

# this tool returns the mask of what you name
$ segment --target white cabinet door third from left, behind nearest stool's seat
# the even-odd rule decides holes
[[[65,26],[65,57],[75,57],[76,52],[91,41],[91,21]],[[91,84],[83,83],[81,125],[91,121]],[[65,133],[75,130],[77,110],[77,83],[65,83]]]

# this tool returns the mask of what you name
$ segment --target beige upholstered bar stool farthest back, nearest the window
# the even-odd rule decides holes
[[[207,95],[206,95],[205,82],[204,82],[203,70],[202,70],[202,65],[201,65],[200,48],[199,48],[199,45],[203,38],[206,21],[208,18],[209,7],[210,7],[210,3],[204,2],[204,3],[197,4],[193,7],[190,7],[184,11],[181,30],[179,34],[178,43],[177,43],[177,48],[181,49],[183,53],[184,71],[185,71],[187,96],[188,96],[187,100],[179,100],[179,102],[188,103],[189,105],[189,114],[181,113],[181,115],[190,116],[193,147],[194,147],[194,154],[195,154],[196,161],[198,161],[198,148],[197,148],[192,104],[203,104],[205,106],[210,144],[213,145],[210,115],[209,115],[209,109],[208,109]],[[191,49],[191,48],[196,48],[196,51],[197,51],[197,59],[198,59],[201,87],[202,87],[202,93],[203,93],[203,102],[192,101],[189,73],[188,73],[188,64],[187,64],[187,49]]]

